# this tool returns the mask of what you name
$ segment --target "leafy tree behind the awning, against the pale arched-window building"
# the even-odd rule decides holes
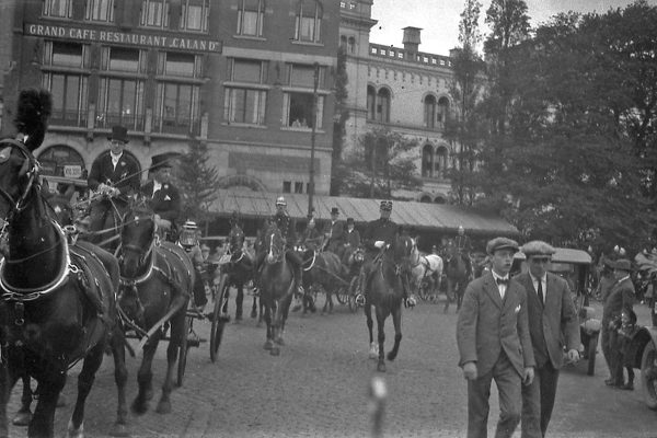
[[[388,128],[374,128],[358,139],[345,158],[346,175],[342,192],[355,197],[392,198],[395,191],[417,189],[422,182],[414,176],[417,169],[408,152],[417,141]]]

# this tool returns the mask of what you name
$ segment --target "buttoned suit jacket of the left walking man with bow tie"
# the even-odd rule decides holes
[[[504,300],[492,273],[471,281],[457,321],[459,366],[474,361],[483,376],[504,351],[522,377],[535,366],[528,325],[527,292],[518,281],[509,281]]]

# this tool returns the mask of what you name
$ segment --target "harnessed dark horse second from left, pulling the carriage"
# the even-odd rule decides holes
[[[171,412],[170,394],[178,348],[186,336],[185,314],[194,286],[194,267],[185,251],[155,238],[152,209],[140,204],[128,210],[120,232],[120,288],[118,309],[122,320],[142,338],[143,358],[137,373],[139,392],[131,408],[148,410],[152,396],[152,360],[164,325],[171,326],[166,349],[166,376],[157,412]],[[147,333],[148,332],[148,333]],[[125,400],[119,400],[119,405]]]

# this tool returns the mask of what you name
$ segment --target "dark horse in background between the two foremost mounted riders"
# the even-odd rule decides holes
[[[344,279],[347,274],[346,268],[343,267],[339,256],[331,251],[319,252],[308,249],[303,252],[302,258],[303,289],[310,290],[314,286],[320,286],[326,295],[322,313],[333,313],[332,296],[348,286]]]

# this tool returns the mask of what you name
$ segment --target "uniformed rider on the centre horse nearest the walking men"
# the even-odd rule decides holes
[[[365,261],[360,269],[360,292],[356,295],[356,302],[360,306],[365,304],[368,295],[367,285],[370,276],[374,272],[374,264],[378,263],[380,254],[385,251],[387,246],[392,245],[399,232],[399,226],[390,220],[392,212],[392,200],[382,200],[379,207],[381,217],[368,222],[362,235],[362,245],[365,246]],[[416,300],[408,295],[408,278],[403,276],[402,285],[404,288],[404,304],[413,307]]]

